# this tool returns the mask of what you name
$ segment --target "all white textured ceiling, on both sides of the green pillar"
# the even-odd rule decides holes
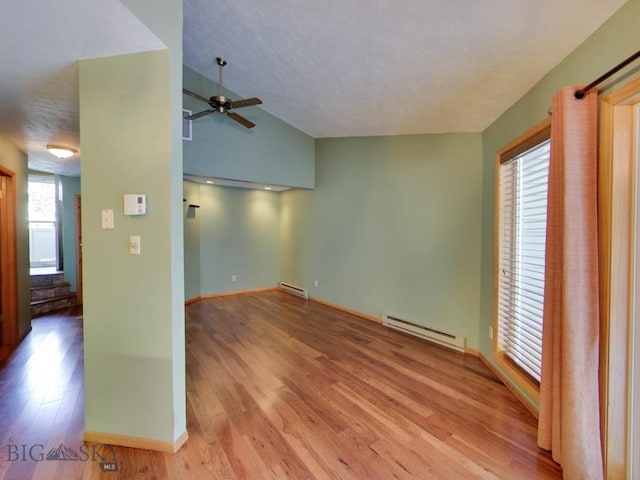
[[[30,168],[78,175],[80,154],[45,151],[79,146],[76,61],[162,43],[119,0],[10,3],[0,131]],[[479,132],[624,3],[184,0],[184,63],[217,81],[226,58],[225,86],[316,138]]]

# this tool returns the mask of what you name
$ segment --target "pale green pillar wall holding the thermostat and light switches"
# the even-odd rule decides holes
[[[168,48],[79,62],[85,429],[173,443],[186,429],[182,2],[124,3]],[[146,194],[147,214],[124,216],[125,193]]]

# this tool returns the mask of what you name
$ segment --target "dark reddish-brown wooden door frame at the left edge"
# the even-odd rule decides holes
[[[2,281],[2,342],[0,347],[18,344],[18,255],[16,240],[16,178],[15,172],[0,165],[0,175],[6,179],[6,198],[0,202],[6,228],[0,230],[0,278]]]

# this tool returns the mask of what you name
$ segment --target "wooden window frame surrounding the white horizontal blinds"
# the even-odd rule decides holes
[[[549,140],[551,137],[551,119],[546,118],[542,122],[522,133],[496,152],[494,174],[494,265],[493,265],[493,359],[496,365],[509,377],[509,379],[522,390],[526,396],[521,399],[527,404],[529,410],[536,412],[539,402],[540,385],[534,378],[527,374],[510,360],[499,348],[500,327],[499,317],[499,289],[500,289],[500,167],[503,163],[517,157],[531,148]],[[527,398],[528,397],[528,398]],[[531,401],[535,402],[533,404]]]

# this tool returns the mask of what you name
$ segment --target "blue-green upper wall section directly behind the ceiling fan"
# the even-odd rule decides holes
[[[184,67],[183,81],[185,88],[204,97],[217,95],[216,83],[188,67]],[[240,98],[233,92],[225,94]],[[194,113],[207,108],[188,95],[183,101],[184,108]],[[247,129],[223,115],[193,121],[193,140],[184,142],[185,173],[313,188],[313,138],[260,107],[243,108],[238,113],[256,123],[256,127]]]

